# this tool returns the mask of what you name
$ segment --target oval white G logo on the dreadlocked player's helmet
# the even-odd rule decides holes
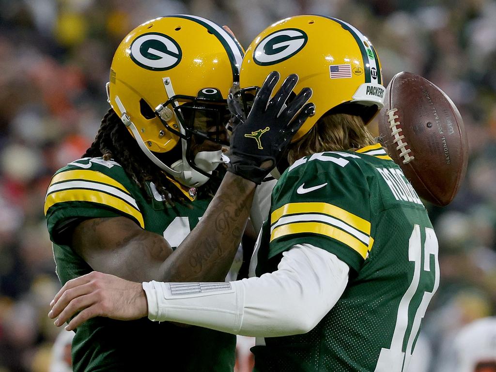
[[[131,60],[153,71],[165,71],[176,66],[183,56],[179,44],[170,36],[150,32],[138,36],[129,48]]]

